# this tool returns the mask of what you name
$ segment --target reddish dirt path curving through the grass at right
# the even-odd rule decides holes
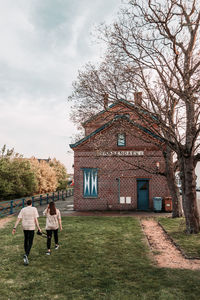
[[[186,259],[155,220],[142,219],[141,223],[159,267],[200,270],[200,260]]]

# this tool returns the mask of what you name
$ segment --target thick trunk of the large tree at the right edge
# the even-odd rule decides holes
[[[196,174],[194,158],[182,156],[180,161],[183,211],[186,219],[187,233],[200,231],[199,212],[196,199]]]

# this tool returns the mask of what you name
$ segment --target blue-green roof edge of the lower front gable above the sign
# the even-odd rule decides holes
[[[88,136],[85,136],[83,139],[81,139],[80,141],[74,143],[74,144],[70,144],[69,146],[73,149],[76,148],[77,146],[81,145],[82,143],[86,142],[87,140],[89,140],[91,137],[95,136],[97,133],[101,132],[102,130],[108,128],[110,125],[113,124],[113,122],[119,120],[119,119],[124,119],[126,121],[128,121],[130,124],[132,124],[134,127],[137,127],[138,129],[142,130],[143,132],[151,135],[153,138],[156,138],[157,140],[163,141],[163,139],[161,137],[159,137],[157,134],[155,134],[154,132],[150,131],[149,129],[141,126],[140,124],[130,120],[129,118],[127,118],[124,115],[117,115],[115,116],[112,120],[110,120],[109,122],[105,123],[103,126],[99,127],[98,129],[96,129],[95,131],[93,131],[92,133],[90,133]]]

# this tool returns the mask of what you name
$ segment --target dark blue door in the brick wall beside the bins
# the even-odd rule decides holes
[[[137,208],[139,210],[149,209],[149,180],[137,180]]]

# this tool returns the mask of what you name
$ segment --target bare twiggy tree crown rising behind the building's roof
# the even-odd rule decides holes
[[[98,66],[86,64],[73,82],[73,93],[69,97],[73,101],[71,119],[76,124],[88,120],[105,108],[107,95],[110,104],[121,98],[133,98],[135,73],[135,69],[123,64],[111,53]]]

